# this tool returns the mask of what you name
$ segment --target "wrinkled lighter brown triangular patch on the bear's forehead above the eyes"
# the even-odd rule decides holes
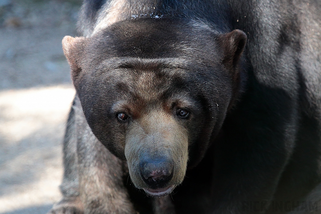
[[[185,66],[190,64],[184,58],[144,59],[121,57],[105,60],[108,73],[121,80],[121,84],[130,88],[133,95],[144,101],[157,101],[160,96],[187,75]],[[183,79],[183,78],[182,78]]]

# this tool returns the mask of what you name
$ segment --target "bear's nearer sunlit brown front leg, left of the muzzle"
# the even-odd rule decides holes
[[[126,162],[116,158],[97,140],[78,99],[76,105],[79,196],[84,213],[136,213],[123,179],[127,174]]]

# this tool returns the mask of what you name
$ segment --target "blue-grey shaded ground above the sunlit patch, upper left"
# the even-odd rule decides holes
[[[80,0],[0,0],[0,90],[71,83],[61,41],[76,35],[79,7]]]

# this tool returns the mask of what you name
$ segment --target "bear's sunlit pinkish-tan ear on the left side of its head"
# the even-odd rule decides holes
[[[82,56],[86,39],[84,37],[65,36],[62,40],[62,49],[68,60],[71,69],[71,77],[75,82],[77,76],[81,73],[80,58]]]

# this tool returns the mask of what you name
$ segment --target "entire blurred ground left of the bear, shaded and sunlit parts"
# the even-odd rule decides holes
[[[74,96],[61,40],[81,0],[0,0],[0,214],[45,214],[61,198]]]

